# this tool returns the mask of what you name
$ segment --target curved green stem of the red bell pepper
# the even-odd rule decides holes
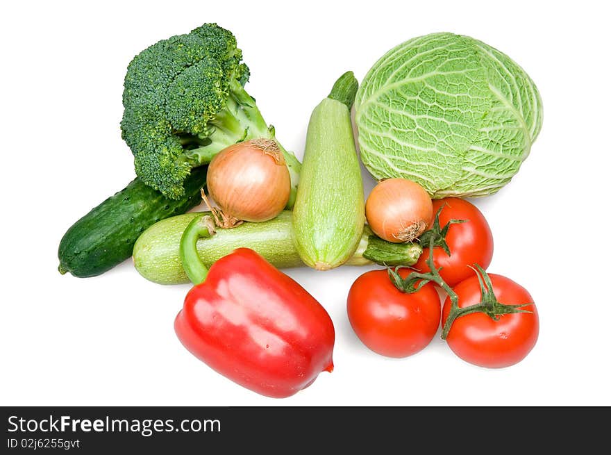
[[[203,283],[208,275],[208,267],[197,253],[197,240],[215,234],[215,222],[210,215],[201,215],[187,225],[181,237],[181,262],[183,269],[193,284]]]

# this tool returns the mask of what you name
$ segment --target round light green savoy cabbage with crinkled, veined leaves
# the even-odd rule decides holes
[[[435,198],[497,192],[528,156],[543,113],[524,69],[452,33],[387,52],[362,81],[355,110],[369,172],[417,181]]]

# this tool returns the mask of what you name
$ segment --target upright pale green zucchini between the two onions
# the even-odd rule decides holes
[[[360,163],[350,108],[358,88],[342,75],[316,106],[305,138],[301,178],[293,211],[295,245],[317,270],[342,265],[358,246],[365,223]]]

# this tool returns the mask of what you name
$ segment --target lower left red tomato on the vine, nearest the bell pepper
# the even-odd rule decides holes
[[[410,273],[399,270],[403,278]],[[395,288],[386,270],[356,279],[348,294],[348,318],[358,338],[372,351],[407,357],[424,349],[440,324],[441,305],[428,283],[414,294]]]

